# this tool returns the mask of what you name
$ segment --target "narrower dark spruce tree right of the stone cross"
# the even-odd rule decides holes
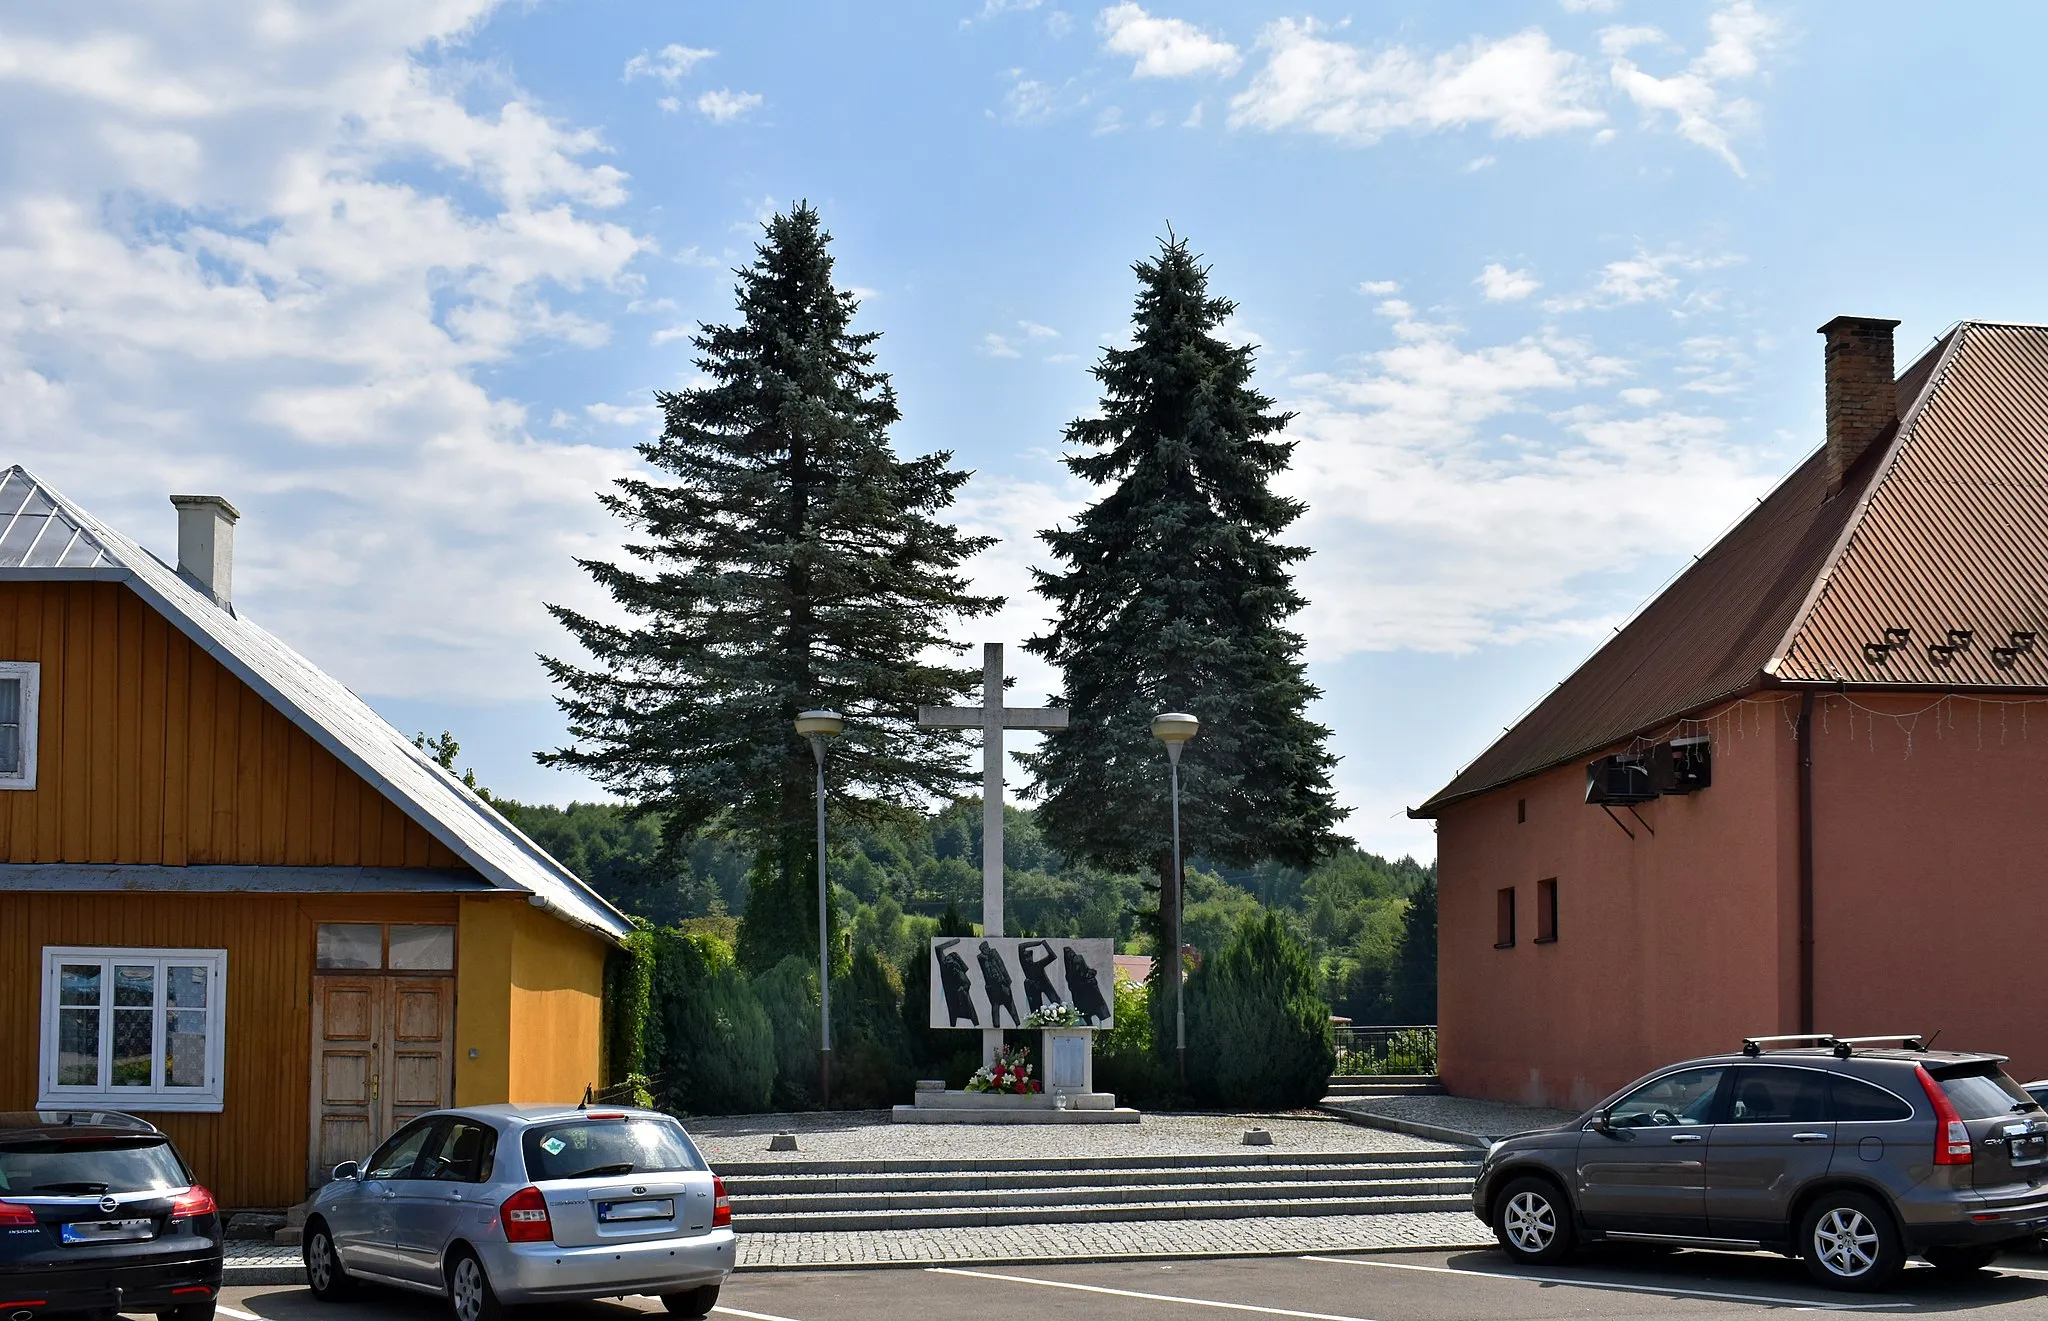
[[[1130,348],[1096,365],[1102,414],[1067,426],[1067,467],[1108,485],[1071,528],[1042,532],[1057,571],[1034,569],[1057,619],[1026,643],[1055,664],[1067,729],[1026,764],[1038,819],[1061,852],[1161,879],[1174,926],[1165,750],[1151,717],[1202,721],[1180,764],[1186,856],[1231,866],[1309,866],[1337,844],[1329,729],[1305,715],[1303,606],[1278,541],[1303,504],[1270,489],[1294,444],[1292,414],[1251,389],[1251,350],[1217,336],[1237,305],[1208,293],[1208,268],[1178,238],[1133,266]],[[1165,1010],[1169,997],[1155,995]],[[1163,1018],[1161,1024],[1169,1024]],[[1169,1051],[1171,1028],[1159,1049]]]

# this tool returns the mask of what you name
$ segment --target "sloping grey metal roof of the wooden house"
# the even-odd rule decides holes
[[[127,584],[489,885],[532,895],[606,936],[633,930],[575,872],[336,678],[16,465],[0,475],[0,582],[25,580]]]

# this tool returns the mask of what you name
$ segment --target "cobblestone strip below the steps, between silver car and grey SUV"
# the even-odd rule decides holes
[[[999,1229],[877,1233],[745,1233],[741,1270],[1075,1262],[1090,1258],[1227,1258],[1303,1251],[1485,1247],[1493,1235],[1466,1212],[1264,1217],[1253,1221],[1104,1221]]]

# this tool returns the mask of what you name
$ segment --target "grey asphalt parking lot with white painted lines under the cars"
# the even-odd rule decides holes
[[[1964,1280],[1927,1268],[1886,1294],[1837,1294],[1806,1282],[1796,1262],[1683,1251],[1585,1255],[1559,1270],[1522,1270],[1495,1251],[1100,1262],[1075,1266],[743,1272],[715,1317],[737,1321],[903,1321],[975,1317],[1040,1321],[1102,1317],[1200,1321],[1237,1315],[1298,1321],[1454,1321],[1481,1317],[1745,1317],[1759,1311],[1874,1315],[1970,1313],[2048,1319],[2048,1258],[2011,1258]],[[655,1298],[557,1305],[563,1321],[662,1315]],[[229,1288],[233,1321],[428,1321],[446,1309],[424,1296],[365,1290],[326,1305],[297,1286]]]

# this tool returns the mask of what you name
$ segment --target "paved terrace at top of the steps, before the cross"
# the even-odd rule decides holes
[[[1446,1143],[1348,1124],[1313,1110],[1286,1114],[1145,1114],[1137,1124],[893,1124],[887,1110],[745,1114],[682,1120],[713,1169],[731,1161],[889,1161],[1090,1155],[1243,1155],[1257,1151],[1460,1151]],[[1245,1128],[1272,1147],[1245,1147]],[[795,1157],[768,1137],[797,1135]]]

